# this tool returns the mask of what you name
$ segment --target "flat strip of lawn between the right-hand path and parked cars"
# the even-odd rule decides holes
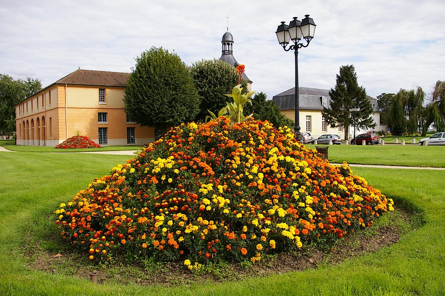
[[[306,145],[328,148],[330,162],[347,161],[355,164],[445,167],[444,146],[418,145]]]

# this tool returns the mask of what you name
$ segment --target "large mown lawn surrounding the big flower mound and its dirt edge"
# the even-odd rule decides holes
[[[365,151],[353,148],[359,148],[355,149],[356,158]],[[336,148],[331,151],[334,155],[344,153]],[[352,153],[347,157],[354,160]],[[396,207],[413,210],[413,217],[424,224],[397,244],[336,265],[327,262],[302,272],[170,288],[95,285],[70,276],[63,266],[55,272],[29,267],[30,259],[24,252],[29,253],[33,246],[54,254],[64,250],[51,220],[57,206],[127,158],[0,152],[0,295],[443,295],[444,171],[354,168],[355,174],[393,197]]]

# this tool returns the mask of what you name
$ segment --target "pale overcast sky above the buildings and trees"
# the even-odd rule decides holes
[[[228,16],[233,56],[272,99],[295,86],[277,26],[310,14],[317,27],[298,51],[299,86],[334,88],[352,64],[371,97],[417,86],[429,94],[445,80],[444,11],[444,0],[0,0],[0,73],[46,87],[79,67],[130,73],[152,46],[186,65],[220,58]]]

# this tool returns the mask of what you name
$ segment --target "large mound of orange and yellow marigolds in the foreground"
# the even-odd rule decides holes
[[[183,259],[193,269],[329,245],[387,210],[391,199],[290,129],[220,117],[173,128],[61,204],[56,223],[90,259]]]

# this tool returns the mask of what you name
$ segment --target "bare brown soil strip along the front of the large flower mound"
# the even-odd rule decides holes
[[[415,230],[416,225],[410,222],[412,213],[398,208],[396,213],[409,227]],[[126,285],[135,283],[142,286],[162,285],[178,286],[202,284],[204,282],[227,282],[242,280],[255,276],[281,275],[287,272],[303,271],[317,268],[320,265],[335,265],[346,259],[374,253],[399,241],[407,231],[396,223],[374,227],[353,233],[338,241],[331,251],[322,252],[314,248],[305,248],[297,254],[282,253],[270,259],[263,259],[256,264],[243,267],[240,263],[215,264],[204,267],[201,271],[190,272],[183,260],[166,264],[151,264],[148,269],[141,262],[129,265],[115,262],[107,266],[92,266],[75,253],[50,254],[35,247],[26,250],[28,266],[32,269],[73,276],[78,279],[90,279],[90,273],[97,271],[99,284]]]

